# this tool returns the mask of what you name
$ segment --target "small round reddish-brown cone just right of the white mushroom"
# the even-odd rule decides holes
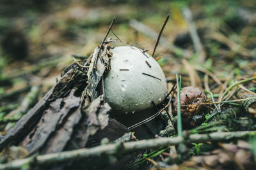
[[[191,126],[198,125],[204,120],[206,113],[210,111],[210,106],[208,104],[210,100],[207,99],[204,92],[198,87],[184,87],[180,91],[180,108],[182,115],[182,122],[184,124],[189,124]],[[173,103],[175,108],[175,113],[177,113],[177,97]]]

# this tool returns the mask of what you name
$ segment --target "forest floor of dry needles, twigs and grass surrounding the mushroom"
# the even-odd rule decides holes
[[[147,49],[152,55],[164,20],[170,15],[154,56],[164,71],[169,90],[177,81],[176,74],[179,74],[182,81],[180,87],[178,85],[177,92],[180,88],[188,86],[202,89],[209,102],[212,102],[209,104],[209,107],[211,106],[209,114],[204,115],[204,124],[186,127],[186,132],[189,133],[186,134],[187,141],[184,134],[181,137],[179,133],[165,132],[166,134],[162,135],[169,138],[161,138],[159,137],[161,134],[158,133],[159,141],[155,143],[147,139],[148,147],[140,141],[132,144],[132,140],[131,145],[124,145],[124,153],[129,153],[128,156],[135,154],[136,156],[133,156],[136,159],[131,160],[131,157],[127,158],[128,160],[124,157],[120,159],[118,155],[118,159],[108,157],[109,161],[106,162],[113,164],[115,160],[126,161],[124,164],[129,165],[130,169],[184,169],[185,167],[248,169],[255,166],[255,11],[256,3],[253,0],[156,2],[141,0],[129,1],[129,3],[115,0],[2,1],[0,4],[1,134],[4,136],[8,133],[29,109],[33,108],[57,82],[60,82],[61,73],[70,65],[79,60],[90,59],[93,50],[104,39],[114,17],[115,22],[108,38],[118,38],[128,42],[129,45]],[[122,43],[113,42],[111,45],[118,46]],[[176,97],[177,94],[174,92],[171,94],[170,102],[173,103],[172,97]],[[244,94],[247,96],[244,97]],[[223,104],[223,101],[226,103]],[[174,113],[175,111],[176,109],[172,110],[171,107],[173,115],[177,114]],[[221,111],[227,116],[210,121],[214,118],[211,115],[218,115]],[[170,118],[169,115],[167,116]],[[166,127],[170,125],[168,118],[166,118]],[[218,122],[219,120],[222,122]],[[179,125],[174,129],[179,131]],[[204,136],[206,133],[209,136]],[[151,143],[152,147],[149,146]],[[186,146],[179,145],[175,148],[174,145],[179,143],[186,143]],[[136,145],[138,150],[134,149]],[[106,149],[104,153],[107,155],[116,154],[103,146],[98,149]],[[164,148],[166,146],[168,147]],[[111,144],[109,147],[116,149]],[[1,141],[0,148],[2,148]],[[221,150],[214,152],[215,148]],[[99,152],[99,150],[97,148],[93,150],[92,147],[91,152]],[[136,152],[131,153],[134,150]],[[250,152],[251,150],[253,151]],[[202,151],[207,152],[207,156],[190,159],[192,155],[200,155]],[[22,151],[24,157],[18,153],[12,155],[12,152],[8,152],[12,156],[6,156],[8,154],[4,152],[1,156],[1,160],[4,159],[2,163],[29,155],[26,151]],[[247,157],[244,158],[244,155]],[[84,157],[90,156],[95,155],[88,153]],[[185,157],[187,162],[182,162],[180,158]],[[239,161],[242,158],[244,162]],[[67,160],[72,160],[72,157]],[[44,161],[49,163],[51,159],[39,156],[38,165],[44,164]],[[3,165],[6,169],[12,169],[8,164]]]

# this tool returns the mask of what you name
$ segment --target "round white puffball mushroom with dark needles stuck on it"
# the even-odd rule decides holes
[[[119,114],[154,107],[167,93],[163,70],[156,60],[135,46],[110,50],[111,70],[104,78],[106,102]]]

